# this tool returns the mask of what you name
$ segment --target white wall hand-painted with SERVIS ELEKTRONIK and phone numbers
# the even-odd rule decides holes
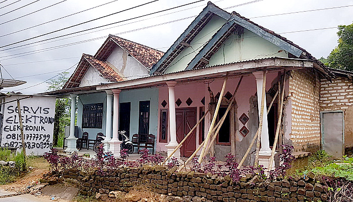
[[[5,101],[28,95],[11,94]],[[20,100],[27,155],[43,155],[52,146],[55,96],[33,95]],[[5,104],[1,146],[17,147],[21,151],[21,130],[17,102]]]

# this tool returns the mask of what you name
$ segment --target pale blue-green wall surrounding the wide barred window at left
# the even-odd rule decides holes
[[[78,105],[77,105],[77,121],[76,125],[79,128],[79,137],[82,137],[83,132],[88,132],[89,139],[95,139],[97,133],[102,132],[105,135],[105,123],[106,123],[106,93],[97,92],[89,94],[81,94],[78,96]],[[82,128],[82,110],[83,105],[86,104],[96,104],[103,103],[103,120],[102,128]]]

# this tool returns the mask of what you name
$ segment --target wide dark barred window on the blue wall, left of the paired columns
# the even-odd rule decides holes
[[[83,105],[82,128],[102,128],[103,103]]]

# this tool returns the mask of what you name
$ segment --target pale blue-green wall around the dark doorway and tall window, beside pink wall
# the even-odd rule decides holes
[[[150,100],[150,126],[149,133],[157,137],[158,126],[158,89],[143,88],[123,90],[119,96],[119,103],[131,103],[130,136],[139,132],[139,105],[140,101]]]

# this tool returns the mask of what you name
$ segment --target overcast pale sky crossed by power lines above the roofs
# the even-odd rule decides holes
[[[4,0],[0,1],[3,2]],[[6,0],[0,3],[0,46],[5,46],[41,34],[52,32],[58,29],[69,27],[78,23],[86,22],[111,13],[132,8],[152,0]],[[64,1],[64,2],[63,2]],[[94,55],[108,34],[114,34],[144,45],[159,49],[165,52],[168,47],[180,36],[187,26],[194,20],[188,18],[177,22],[158,25],[151,28],[140,29],[152,25],[166,23],[190,16],[198,15],[207,1],[202,1],[189,6],[165,11],[162,13],[137,18],[134,20],[117,23],[111,26],[105,26],[78,34],[68,35],[52,40],[46,40],[39,43],[33,43],[40,40],[49,39],[56,36],[70,34],[73,32],[90,29],[109,23],[119,22],[141,15],[161,11],[164,9],[176,7],[179,5],[192,3],[195,0],[159,0],[148,5],[115,14],[100,20],[85,23],[63,31],[58,31],[25,42],[0,48],[0,63],[11,74],[12,77],[27,81],[26,84],[5,88],[6,91],[21,91],[22,93],[39,93],[47,90],[45,80],[57,76],[58,73],[66,69],[72,74],[83,53]],[[213,1],[221,9],[252,2],[254,0],[217,0]],[[17,3],[15,3],[17,2]],[[62,2],[62,3],[60,3]],[[109,3],[112,2],[112,3]],[[12,4],[14,3],[14,4]],[[27,4],[29,6],[23,7]],[[19,18],[34,11],[43,9],[55,3],[55,6],[38,11],[28,16]],[[91,9],[80,14],[56,20],[34,28],[26,29],[38,24],[42,24],[57,18],[74,14],[86,9],[90,9],[104,3],[107,5]],[[10,5],[12,4],[12,5]],[[9,5],[9,6],[7,6]],[[337,27],[337,25],[348,25],[353,21],[353,0],[259,0],[257,2],[226,9],[226,11],[236,11],[246,18],[266,27],[274,32],[281,34],[287,39],[293,41],[306,49],[314,57],[327,57],[332,49],[337,45],[337,29],[323,29],[315,31],[293,32],[292,31],[310,30]],[[342,7],[312,12],[301,12],[317,9],[326,9],[332,7]],[[19,9],[20,8],[20,9]],[[15,10],[18,9],[18,10]],[[187,9],[187,10],[186,10]],[[15,10],[15,11],[14,11]],[[183,11],[184,10],[184,11]],[[179,12],[178,12],[179,11]],[[9,12],[9,13],[8,13]],[[277,15],[271,17],[262,17],[273,14],[283,14],[291,12],[301,12],[287,15]],[[168,15],[165,15],[168,14]],[[161,16],[163,15],[163,16]],[[19,18],[17,20],[14,20]],[[11,22],[7,22],[10,21]],[[141,21],[143,20],[143,21]],[[139,22],[137,22],[139,21]],[[109,28],[109,29],[106,29]],[[17,33],[10,34],[22,29]],[[104,29],[104,30],[102,30]],[[140,29],[140,30],[136,30]],[[130,32],[129,32],[130,31]],[[124,33],[125,32],[125,33]],[[3,36],[9,34],[7,36]],[[96,40],[90,40],[99,38]],[[85,41],[86,42],[80,42]],[[33,43],[26,45],[28,43]],[[75,44],[77,43],[77,44]],[[16,47],[20,46],[20,47]],[[15,47],[15,48],[12,48]],[[60,47],[60,48],[59,48]],[[12,49],[8,49],[12,48]],[[5,50],[7,49],[7,50]],[[11,78],[2,68],[3,78]],[[39,75],[38,75],[39,74]],[[54,79],[57,77],[54,77]],[[44,83],[42,83],[44,82]],[[39,84],[42,83],[42,84]],[[37,85],[39,84],[39,85]],[[31,87],[35,85],[34,87]],[[25,89],[24,89],[25,88]]]

